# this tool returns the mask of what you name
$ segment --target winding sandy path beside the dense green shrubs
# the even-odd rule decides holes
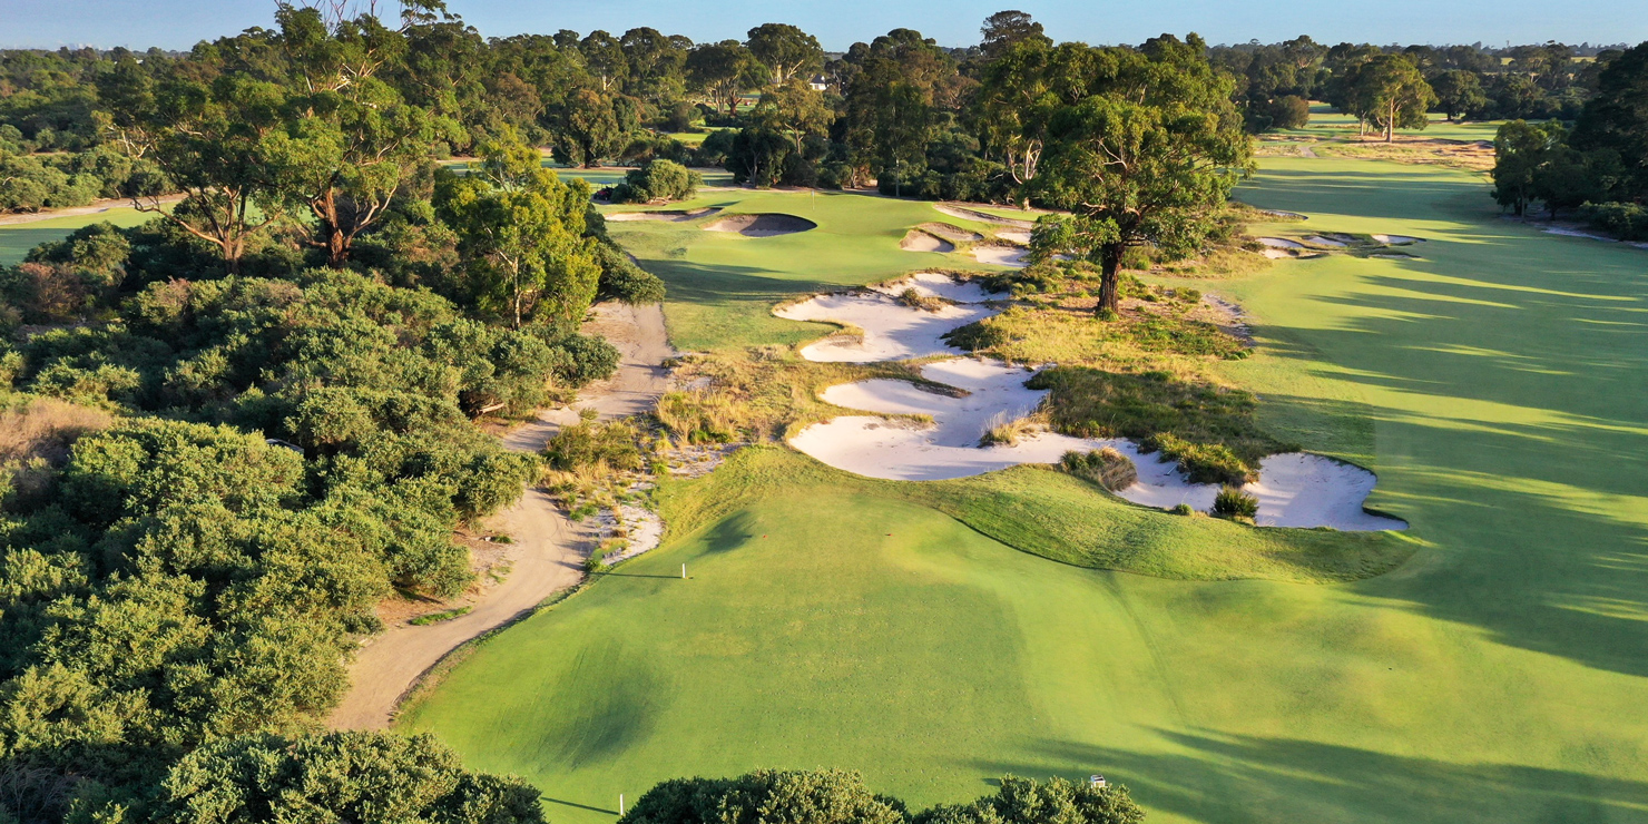
[[[504,448],[539,452],[564,424],[578,420],[577,409],[595,409],[602,419],[626,417],[649,410],[664,394],[669,372],[661,363],[674,349],[664,331],[661,305],[603,303],[595,308],[595,320],[583,331],[602,335],[618,346],[623,353],[618,372],[585,387],[574,409],[539,410],[537,420],[503,438]],[[402,695],[447,653],[531,613],[544,598],[583,577],[583,559],[590,549],[588,527],[567,521],[542,489],[527,489],[491,526],[514,539],[511,570],[503,583],[486,590],[466,615],[425,626],[399,625],[372,638],[349,667],[351,687],[328,719],[330,727],[389,727]]]

